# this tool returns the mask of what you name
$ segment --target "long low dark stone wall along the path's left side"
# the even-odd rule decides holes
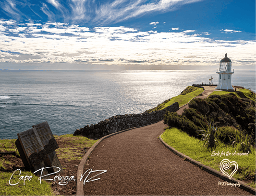
[[[84,128],[77,129],[73,136],[83,135],[87,138],[101,138],[111,133],[130,129],[133,127],[139,127],[142,125],[151,124],[163,119],[163,115],[166,111],[174,112],[179,109],[179,103],[175,102],[171,106],[159,111],[153,111],[151,113],[140,114],[125,114],[113,116],[109,119],[102,120],[99,123],[91,126],[86,125]]]

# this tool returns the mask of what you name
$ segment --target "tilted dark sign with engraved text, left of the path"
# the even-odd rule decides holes
[[[21,155],[24,167],[32,172],[44,167],[50,167],[43,170],[42,176],[58,172],[63,172],[61,163],[55,150],[59,148],[54,136],[50,130],[47,121],[33,126],[33,129],[18,133],[18,140],[15,145]],[[41,175],[41,171],[37,172]],[[48,178],[48,176],[46,177]]]

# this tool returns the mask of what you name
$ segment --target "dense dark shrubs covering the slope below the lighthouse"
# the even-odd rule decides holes
[[[192,99],[188,106],[190,109],[184,109],[182,116],[172,114],[170,117],[166,117],[166,123],[169,121],[169,126],[176,127],[187,132],[189,135],[195,136],[195,131],[202,129],[200,128],[201,124],[203,127],[207,126],[207,122],[205,120],[205,118],[207,118],[214,121],[215,126],[234,127],[243,133],[244,137],[246,134],[250,135],[250,144],[255,145],[256,111],[254,100],[238,98],[234,96],[234,94],[225,94],[221,96],[210,95],[205,99]],[[229,131],[227,134],[224,134],[224,132],[225,131],[221,132],[219,140],[228,144],[229,140],[227,138],[227,134],[231,134],[231,132]],[[231,136],[233,136],[233,134],[231,134]]]

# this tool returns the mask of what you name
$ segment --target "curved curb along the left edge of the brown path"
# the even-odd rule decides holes
[[[138,127],[133,127],[133,128],[122,130],[122,131],[118,131],[118,132],[115,132],[115,133],[111,133],[109,135],[106,135],[106,136],[100,138],[95,144],[93,144],[93,146],[85,153],[84,157],[82,158],[82,160],[80,161],[80,163],[78,165],[77,175],[76,175],[76,179],[77,179],[77,181],[76,181],[76,195],[77,196],[84,196],[84,185],[83,185],[83,181],[80,180],[80,178],[83,175],[85,163],[88,160],[88,157],[91,155],[91,153],[94,151],[94,149],[98,146],[98,144],[100,142],[102,142],[103,140],[105,140],[105,139],[107,139],[107,138],[109,138],[109,137],[111,137],[113,135],[122,133],[124,131],[129,131],[129,130],[133,130],[133,129],[140,128],[140,127],[145,127],[145,126],[148,126],[148,125],[151,125],[151,124],[158,123],[158,122],[160,122],[162,120],[163,119],[158,120],[158,121],[153,122],[153,123],[150,123],[150,124],[146,124],[146,125],[142,125],[142,126],[138,126]]]

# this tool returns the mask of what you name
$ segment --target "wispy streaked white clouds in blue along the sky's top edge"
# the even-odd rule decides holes
[[[30,1],[3,0],[1,9],[16,20],[26,19],[24,10],[31,11],[28,15],[37,15],[40,18],[47,15],[49,21],[55,22],[62,18],[64,22],[93,23],[95,26],[107,25],[138,18],[146,14],[175,11],[184,4],[201,0],[42,0],[37,4]],[[16,4],[19,4],[17,6]]]

